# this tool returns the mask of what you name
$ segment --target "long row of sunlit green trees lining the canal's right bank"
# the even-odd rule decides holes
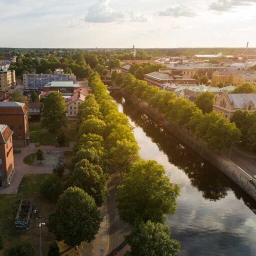
[[[125,77],[122,86],[124,91],[141,98],[163,113],[167,120],[189,129],[210,149],[221,150],[229,147],[232,141],[240,139],[241,132],[235,123],[215,111],[208,112],[210,109],[202,100],[197,100],[200,109],[197,105],[191,104],[188,99],[176,98],[174,92],[149,86],[145,81],[137,80],[131,74]],[[206,103],[208,104],[208,101]]]

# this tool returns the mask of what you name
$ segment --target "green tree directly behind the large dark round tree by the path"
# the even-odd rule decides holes
[[[94,198],[97,206],[101,206],[107,195],[107,180],[108,176],[99,165],[83,159],[75,164],[68,183],[83,189]]]

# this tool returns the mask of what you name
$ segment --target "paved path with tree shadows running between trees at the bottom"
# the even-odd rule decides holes
[[[112,251],[117,250],[118,256],[122,256],[128,246],[124,241],[124,235],[130,232],[129,226],[120,220],[118,211],[115,207],[115,198],[118,192],[117,186],[121,182],[118,172],[111,175],[108,182],[108,197],[106,203],[101,207],[104,216],[96,239],[90,243],[84,243],[82,256],[99,256],[99,250],[104,249],[101,256],[112,256]]]

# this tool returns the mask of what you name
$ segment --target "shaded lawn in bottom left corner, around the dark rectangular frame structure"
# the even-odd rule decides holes
[[[45,201],[39,195],[40,184],[47,174],[27,174],[23,177],[17,194],[1,194],[0,195],[0,234],[3,238],[4,247],[15,244],[17,241],[30,240],[39,255],[39,222],[47,222],[48,213],[54,209],[54,204]],[[13,228],[14,218],[19,206],[18,199],[32,199],[32,208],[36,207],[42,218],[35,219],[31,215],[32,223],[29,224],[29,230],[18,230]],[[48,232],[46,226],[42,226],[42,245],[43,254],[47,255],[48,242],[54,239],[54,235]],[[0,256],[3,250],[0,250]]]

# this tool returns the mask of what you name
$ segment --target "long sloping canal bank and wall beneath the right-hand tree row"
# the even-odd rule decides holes
[[[123,92],[124,93],[124,92]],[[159,124],[163,125],[166,129],[172,132],[179,139],[184,141],[188,146],[200,154],[203,158],[221,170],[226,176],[228,176],[233,182],[241,187],[251,198],[256,201],[256,187],[253,186],[249,179],[251,176],[242,170],[233,161],[228,159],[223,153],[217,153],[209,150],[202,140],[197,139],[187,129],[180,127],[179,125],[166,121],[164,116],[158,111],[151,108],[148,103],[141,101],[127,93],[123,94],[126,99],[131,100],[146,114],[154,118]]]

